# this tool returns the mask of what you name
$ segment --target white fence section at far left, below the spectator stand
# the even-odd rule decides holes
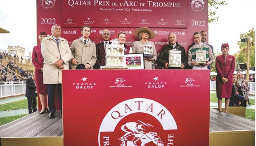
[[[0,84],[0,98],[13,95],[22,95],[26,92],[26,82],[5,82],[8,84]]]

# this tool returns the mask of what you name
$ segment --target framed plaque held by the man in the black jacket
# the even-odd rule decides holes
[[[181,65],[181,51],[170,50],[169,51],[169,65],[168,67],[182,67]]]

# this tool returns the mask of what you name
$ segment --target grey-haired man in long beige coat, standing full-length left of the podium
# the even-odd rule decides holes
[[[44,58],[43,78],[47,84],[48,107],[50,114],[48,118],[54,118],[55,108],[55,87],[57,85],[60,109],[62,113],[62,70],[69,70],[71,51],[68,41],[61,38],[61,27],[57,24],[52,26],[52,35],[42,39],[41,51]]]

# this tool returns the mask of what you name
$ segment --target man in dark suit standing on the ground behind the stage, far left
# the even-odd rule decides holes
[[[26,80],[26,95],[28,98],[28,114],[36,112],[36,75],[32,74],[30,78]]]

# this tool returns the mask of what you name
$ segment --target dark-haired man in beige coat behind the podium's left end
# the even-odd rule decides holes
[[[78,64],[85,65],[84,69],[86,70],[93,69],[93,65],[96,63],[96,47],[94,42],[89,39],[91,30],[89,25],[84,25],[81,28],[82,37],[74,40],[70,46],[72,70],[76,70]]]

